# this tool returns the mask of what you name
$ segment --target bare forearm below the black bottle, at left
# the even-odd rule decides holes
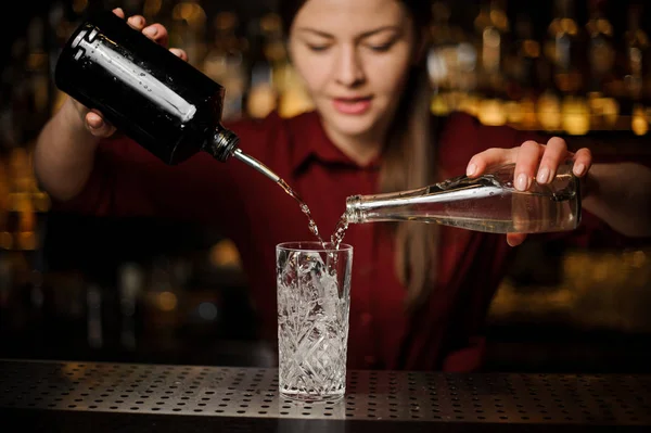
[[[98,142],[68,99],[37,139],[34,170],[41,188],[60,201],[77,195],[92,170]]]

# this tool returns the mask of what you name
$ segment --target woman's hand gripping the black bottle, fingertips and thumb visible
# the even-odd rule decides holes
[[[113,13],[124,20],[125,12],[122,8],[116,8],[113,10]],[[146,22],[141,15],[129,16],[127,23],[131,28],[142,31],[144,36],[156,41],[163,47],[167,47],[169,38],[167,34],[167,29],[157,23],[146,25]],[[170,52],[173,52],[178,58],[188,61],[188,54],[178,48],[170,48]],[[86,129],[90,131],[95,137],[105,138],[110,137],[115,132],[115,127],[111,125],[107,120],[104,119],[102,113],[97,110],[89,110],[84,104],[78,102],[77,100],[71,98],[69,101],[75,106],[75,110],[79,114],[79,117],[84,122]]]

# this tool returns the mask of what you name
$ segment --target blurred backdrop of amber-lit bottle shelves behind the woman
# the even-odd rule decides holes
[[[423,0],[430,1],[430,0]],[[15,4],[13,4],[15,3]],[[225,117],[293,116],[311,103],[275,0],[13,2],[1,28],[0,357],[206,365],[275,362],[256,341],[238,251],[213,229],[50,213],[31,175],[36,135],[63,95],[59,50],[93,8],[122,7],[227,88]],[[432,1],[436,114],[586,140],[651,157],[651,2]],[[487,368],[651,370],[651,249],[529,240],[489,314]]]

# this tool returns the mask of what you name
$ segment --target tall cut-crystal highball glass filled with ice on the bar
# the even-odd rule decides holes
[[[281,396],[332,402],[345,394],[352,265],[348,244],[277,245]]]

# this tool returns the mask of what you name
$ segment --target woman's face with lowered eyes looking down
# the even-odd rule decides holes
[[[399,0],[308,0],[290,33],[294,67],[326,130],[342,139],[383,138],[416,43]]]

